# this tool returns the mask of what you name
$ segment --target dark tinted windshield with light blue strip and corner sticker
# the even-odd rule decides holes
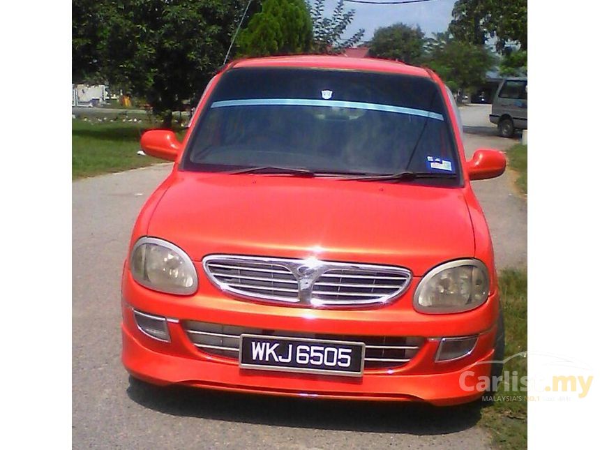
[[[217,84],[182,169],[451,175],[457,161],[444,100],[433,80],[349,70],[239,68]],[[449,183],[447,177],[442,180]]]

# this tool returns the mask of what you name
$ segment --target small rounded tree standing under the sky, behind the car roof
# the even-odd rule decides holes
[[[412,28],[398,23],[375,30],[369,45],[369,55],[377,58],[396,59],[407,64],[421,61],[425,34],[419,27]]]

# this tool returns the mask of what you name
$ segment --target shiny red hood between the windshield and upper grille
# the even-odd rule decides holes
[[[461,188],[175,172],[147,234],[200,261],[225,253],[393,264],[421,276],[474,255]]]

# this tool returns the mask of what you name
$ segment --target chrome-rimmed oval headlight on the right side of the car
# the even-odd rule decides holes
[[[460,313],[488,299],[490,281],[479,260],[451,261],[431,269],[414,292],[414,308],[421,313]]]

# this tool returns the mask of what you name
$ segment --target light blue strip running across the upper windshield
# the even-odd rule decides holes
[[[409,114],[411,116],[428,117],[444,121],[444,116],[437,112],[416,110],[393,105],[380,105],[378,103],[351,102],[343,100],[315,100],[313,98],[246,98],[240,100],[220,100],[211,105],[211,108],[230,107],[230,106],[324,106],[324,107],[343,107],[354,108],[357,110],[395,112],[397,114]]]

